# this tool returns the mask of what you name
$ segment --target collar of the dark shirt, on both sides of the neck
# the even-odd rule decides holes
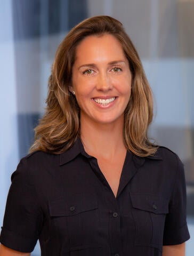
[[[130,152],[128,152],[128,153],[130,153]],[[80,140],[80,138],[78,137],[78,139],[76,140],[76,142],[74,143],[74,145],[71,148],[69,148],[64,153],[60,154],[60,164],[59,165],[63,165],[63,164],[70,162],[72,159],[76,158],[79,154],[82,154],[87,158],[92,157],[85,152],[83,143]],[[162,160],[163,158],[161,156],[160,148],[157,150],[155,155],[152,155],[152,156],[140,157],[140,156],[136,156],[133,154],[133,161],[134,161],[136,167],[140,167],[141,165],[143,165],[146,158],[153,159],[153,160]]]

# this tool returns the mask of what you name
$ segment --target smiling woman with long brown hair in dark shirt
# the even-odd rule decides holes
[[[12,175],[0,255],[182,256],[180,159],[153,145],[151,90],[122,24],[74,27],[59,46],[31,154]]]

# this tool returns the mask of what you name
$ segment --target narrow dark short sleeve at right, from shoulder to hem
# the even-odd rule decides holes
[[[181,244],[190,238],[187,226],[187,194],[183,163],[177,159],[176,177],[169,202],[169,212],[166,215],[163,245]]]

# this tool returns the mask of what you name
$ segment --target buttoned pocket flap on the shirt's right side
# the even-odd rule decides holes
[[[132,205],[135,209],[149,211],[156,214],[168,213],[168,202],[160,195],[130,193],[130,196]]]

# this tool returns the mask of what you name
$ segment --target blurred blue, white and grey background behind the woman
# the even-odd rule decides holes
[[[194,0],[0,0],[0,223],[10,176],[44,113],[56,48],[79,21],[111,15],[123,22],[155,96],[150,137],[185,166],[194,250]],[[40,255],[39,244],[33,256]]]

